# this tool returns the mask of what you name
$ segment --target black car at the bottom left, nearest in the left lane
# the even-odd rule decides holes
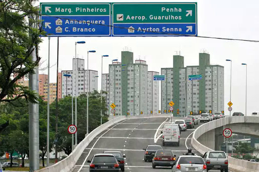
[[[111,153],[95,154],[90,163],[89,172],[119,172],[119,163]]]

